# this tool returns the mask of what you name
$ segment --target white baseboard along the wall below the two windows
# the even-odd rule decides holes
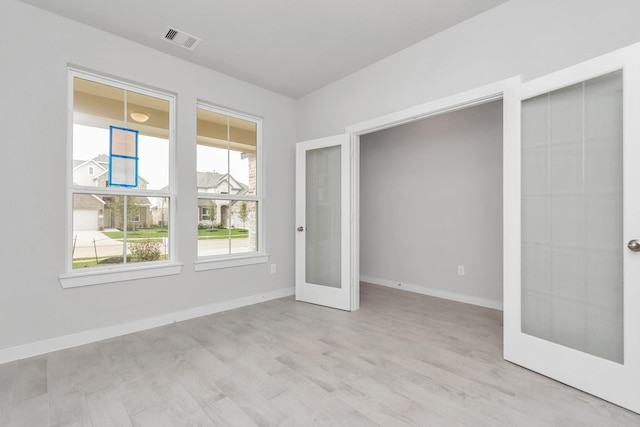
[[[65,335],[43,341],[23,344],[16,347],[0,349],[0,364],[12,362],[14,360],[25,359],[52,351],[63,350],[65,348],[76,347],[89,344],[108,338],[114,338],[133,332],[144,331],[158,326],[165,326],[183,320],[196,317],[207,316],[209,314],[232,310],[234,308],[245,307],[273,299],[284,298],[295,293],[295,288],[279,289],[265,294],[252,295],[250,297],[238,298],[231,301],[224,301],[216,304],[209,304],[201,307],[194,307],[187,310],[177,311],[161,316],[108,326],[106,328],[93,329],[79,332],[77,334]]]

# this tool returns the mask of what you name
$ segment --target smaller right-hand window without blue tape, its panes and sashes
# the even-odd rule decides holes
[[[260,121],[198,105],[198,257],[261,252]]]

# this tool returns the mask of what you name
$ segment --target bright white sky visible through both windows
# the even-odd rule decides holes
[[[109,154],[109,130],[83,125],[73,126],[73,159],[89,160]],[[226,150],[198,146],[197,170],[200,172],[227,171]],[[138,172],[149,182],[148,189],[158,190],[169,183],[169,141],[145,135],[138,137]],[[231,175],[238,181],[249,182],[247,160],[232,152],[229,162]]]

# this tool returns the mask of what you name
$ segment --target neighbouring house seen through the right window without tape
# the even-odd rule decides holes
[[[239,196],[247,194],[249,187],[246,184],[236,180],[229,174],[218,172],[198,172],[197,176],[199,193],[217,193],[217,194],[237,194]],[[215,209],[215,214],[212,215]],[[211,200],[198,200],[198,223],[209,223],[214,221],[216,224],[227,225],[231,227],[244,227],[240,219],[241,203],[232,203],[229,206],[228,200],[217,200],[215,206]]]

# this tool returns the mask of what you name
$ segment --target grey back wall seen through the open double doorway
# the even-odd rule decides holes
[[[502,101],[360,142],[362,280],[501,307]]]

